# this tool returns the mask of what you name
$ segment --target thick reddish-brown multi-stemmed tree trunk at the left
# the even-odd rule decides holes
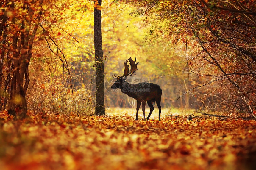
[[[37,4],[36,4],[37,3]],[[35,5],[41,6],[43,0],[35,2]],[[35,39],[35,34],[38,30],[39,21],[41,19],[42,11],[40,11],[36,18],[32,18],[35,9],[31,6],[24,4],[23,9],[27,9],[27,16],[21,20],[21,31],[13,35],[13,77],[10,87],[10,102],[8,105],[8,113],[19,118],[26,117],[27,101],[26,91],[29,85],[29,62],[32,56],[32,46]],[[40,8],[42,9],[42,8]],[[33,21],[33,19],[36,19]],[[13,24],[17,24],[13,18]],[[33,23],[32,23],[33,21]],[[33,31],[25,28],[34,26]],[[32,31],[32,34],[30,33]],[[24,83],[25,77],[25,83]]]

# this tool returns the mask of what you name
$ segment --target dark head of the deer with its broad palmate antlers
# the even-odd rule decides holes
[[[129,64],[127,64],[127,62],[129,61]],[[132,58],[130,57],[129,59],[125,60],[124,62],[124,74],[122,76],[114,76],[112,75],[113,78],[116,78],[117,80],[115,81],[115,83],[111,86],[111,89],[118,89],[120,87],[120,85],[123,83],[123,81],[126,80],[127,76],[132,76],[138,69],[137,69],[137,64],[139,62],[136,63],[136,58],[133,61]],[[129,65],[131,66],[131,70],[129,69]]]

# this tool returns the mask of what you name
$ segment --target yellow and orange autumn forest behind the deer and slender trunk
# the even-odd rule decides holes
[[[0,109],[93,113],[93,2],[2,1],[0,16]],[[137,57],[131,80],[159,84],[163,107],[253,115],[255,24],[254,1],[104,1],[107,107],[135,107],[110,86]]]

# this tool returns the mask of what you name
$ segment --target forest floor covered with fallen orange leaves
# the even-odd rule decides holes
[[[143,121],[140,110],[135,121],[134,109],[109,109],[107,116],[29,115],[24,120],[2,112],[0,169],[255,168],[254,120],[187,120],[166,116],[172,113],[163,109],[158,122],[157,113]]]

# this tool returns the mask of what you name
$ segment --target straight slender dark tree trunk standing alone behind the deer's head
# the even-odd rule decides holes
[[[105,114],[104,63],[101,37],[101,0],[94,0],[94,50],[96,69],[95,114]]]

